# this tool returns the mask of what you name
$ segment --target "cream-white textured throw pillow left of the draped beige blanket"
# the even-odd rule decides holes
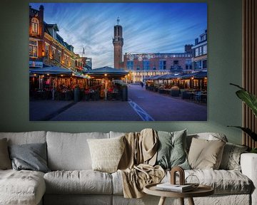
[[[111,139],[89,139],[92,169],[113,173],[117,171],[124,152],[124,136]]]

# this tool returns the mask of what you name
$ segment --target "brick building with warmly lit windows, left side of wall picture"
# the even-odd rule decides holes
[[[74,46],[66,43],[58,31],[57,24],[44,22],[44,6],[39,10],[29,7],[29,67],[55,65],[75,72],[91,69],[86,57],[74,53]]]

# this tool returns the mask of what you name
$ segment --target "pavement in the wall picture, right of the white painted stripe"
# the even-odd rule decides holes
[[[206,104],[155,93],[139,85],[129,85],[129,100],[145,111],[142,118],[146,116],[155,121],[207,120]]]

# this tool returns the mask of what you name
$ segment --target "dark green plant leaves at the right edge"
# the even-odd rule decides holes
[[[239,85],[236,85],[233,83],[230,83],[230,85],[240,88],[240,90],[236,91],[236,95],[238,96],[238,98],[243,100],[243,102],[245,102],[248,107],[251,108],[253,115],[257,117],[257,97],[252,93],[249,93],[245,88],[242,88]],[[248,127],[240,127],[240,126],[228,126],[228,127],[236,127],[238,129],[241,129],[243,130],[243,132],[246,132],[246,134],[249,135],[254,141],[257,141],[257,133],[253,132]],[[257,147],[253,148],[251,152],[257,153]]]

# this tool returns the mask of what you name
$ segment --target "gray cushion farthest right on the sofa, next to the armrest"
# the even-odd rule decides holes
[[[223,157],[219,169],[241,171],[240,155],[246,152],[247,147],[227,142],[223,150]]]

